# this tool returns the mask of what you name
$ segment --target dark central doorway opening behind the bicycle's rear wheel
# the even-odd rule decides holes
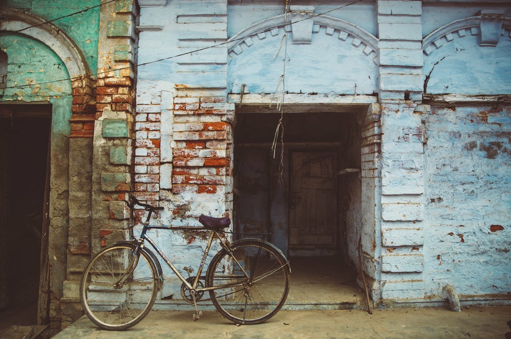
[[[289,309],[353,308],[363,294],[346,229],[360,228],[350,213],[357,213],[352,198],[361,186],[358,176],[341,173],[361,167],[361,112],[299,105],[284,111],[284,147],[279,135],[273,152],[281,114],[237,107],[234,231],[246,237],[269,232],[268,240],[290,259]]]

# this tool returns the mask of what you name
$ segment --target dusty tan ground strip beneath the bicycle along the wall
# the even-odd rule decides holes
[[[505,338],[511,332],[511,306],[414,308],[337,311],[280,311],[260,325],[236,326],[216,311],[198,322],[190,311],[151,311],[133,328],[112,332],[98,329],[86,317],[61,331],[63,338]]]

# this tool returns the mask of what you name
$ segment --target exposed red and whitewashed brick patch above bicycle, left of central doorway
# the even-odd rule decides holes
[[[136,115],[135,191],[139,199],[159,200],[159,101],[140,107]],[[173,99],[172,192],[217,193],[230,175],[224,97],[176,96]]]

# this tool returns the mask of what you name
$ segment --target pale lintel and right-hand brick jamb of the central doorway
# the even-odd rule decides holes
[[[273,95],[259,93],[231,93],[227,102],[235,106],[235,115],[269,112]],[[368,279],[373,300],[380,299],[381,281],[381,121],[380,105],[375,95],[330,95],[289,93],[281,104],[286,113],[293,111],[354,112],[359,114],[362,167],[362,227],[359,230],[362,258],[351,258],[357,270]],[[274,109],[273,109],[274,111]],[[236,140],[234,140],[236,142]],[[236,162],[236,158],[233,157]],[[358,245],[358,244],[357,244]],[[355,245],[355,247],[357,246]]]

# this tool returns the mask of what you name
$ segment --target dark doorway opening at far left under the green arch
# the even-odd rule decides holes
[[[0,329],[37,324],[51,105],[0,105]]]

